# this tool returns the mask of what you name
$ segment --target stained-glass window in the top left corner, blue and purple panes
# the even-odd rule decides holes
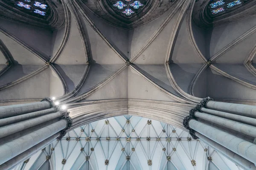
[[[38,17],[46,17],[49,14],[49,6],[45,0],[9,0],[9,3]]]

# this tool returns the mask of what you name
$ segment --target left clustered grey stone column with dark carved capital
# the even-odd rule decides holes
[[[68,114],[49,98],[1,106],[0,169],[9,169],[56,138],[61,139],[72,126]]]

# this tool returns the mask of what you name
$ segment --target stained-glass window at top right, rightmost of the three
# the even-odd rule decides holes
[[[249,0],[210,0],[208,5],[209,13],[212,17],[223,14],[227,11],[244,5]]]

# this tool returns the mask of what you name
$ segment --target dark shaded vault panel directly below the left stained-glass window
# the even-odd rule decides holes
[[[52,31],[44,28],[27,26],[22,23],[15,23],[11,20],[1,18],[0,27],[29,45],[43,56],[51,55]]]

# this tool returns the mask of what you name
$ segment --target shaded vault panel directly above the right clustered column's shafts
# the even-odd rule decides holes
[[[228,79],[213,70],[208,70],[207,80],[207,96],[211,96],[213,99],[256,99],[255,90]]]

